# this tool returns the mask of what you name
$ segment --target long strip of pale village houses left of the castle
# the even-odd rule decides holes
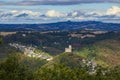
[[[33,57],[33,58],[41,58],[41,59],[45,59],[47,61],[50,61],[53,59],[52,56],[50,55],[46,55],[45,52],[39,52],[39,53],[35,53],[35,48],[34,47],[27,47],[21,44],[17,44],[17,43],[10,43],[9,44],[12,47],[15,47],[16,49],[24,52],[24,54],[28,57]]]

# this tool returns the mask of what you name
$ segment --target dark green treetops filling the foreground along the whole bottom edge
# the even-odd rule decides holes
[[[21,62],[21,54],[11,54],[0,62],[0,80],[119,80],[120,67],[97,69],[90,74],[83,68],[63,64],[39,67],[35,70]]]

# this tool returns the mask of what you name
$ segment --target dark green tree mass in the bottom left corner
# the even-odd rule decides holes
[[[33,80],[33,74],[12,54],[0,63],[0,80]]]

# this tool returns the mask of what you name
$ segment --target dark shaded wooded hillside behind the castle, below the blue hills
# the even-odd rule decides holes
[[[120,32],[74,30],[45,32],[21,31],[16,34],[0,37],[3,39],[3,45],[6,47],[10,47],[10,43],[33,46],[48,52],[50,55],[56,56],[63,53],[68,45],[72,45],[76,50],[104,39],[118,38],[119,35]],[[1,47],[4,46],[1,45]],[[3,53],[3,51],[0,52]]]

